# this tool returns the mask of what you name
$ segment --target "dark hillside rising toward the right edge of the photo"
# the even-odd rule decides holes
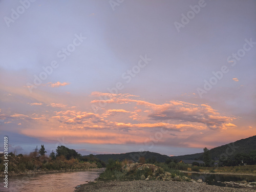
[[[222,146],[218,146],[209,150],[211,158],[218,160],[221,154],[226,154],[232,158],[238,153],[249,154],[250,151],[256,150],[256,136],[241,139],[233,143],[228,143]],[[203,151],[203,148],[202,148]],[[174,156],[178,160],[203,160],[203,153],[196,153],[191,155]]]

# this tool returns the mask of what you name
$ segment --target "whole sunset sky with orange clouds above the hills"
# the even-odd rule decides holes
[[[0,18],[0,151],[177,156],[256,135],[254,0],[0,1]]]

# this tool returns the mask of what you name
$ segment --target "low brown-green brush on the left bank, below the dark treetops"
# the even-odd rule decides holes
[[[85,170],[89,168],[101,168],[104,166],[100,160],[92,156],[90,158],[67,158],[63,155],[58,157],[49,157],[47,155],[39,156],[38,153],[32,152],[29,155],[8,156],[8,175],[31,175],[44,173],[66,172],[71,170]],[[0,177],[6,175],[4,173],[4,157],[0,157]]]

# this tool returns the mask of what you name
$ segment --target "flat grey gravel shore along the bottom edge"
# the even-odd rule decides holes
[[[178,182],[178,181],[97,181],[96,183],[83,184],[75,191],[91,191],[91,192],[127,192],[127,191],[189,191],[189,192],[205,192],[205,191],[255,191],[249,188],[230,188],[219,187],[215,185],[206,185],[205,183]]]

